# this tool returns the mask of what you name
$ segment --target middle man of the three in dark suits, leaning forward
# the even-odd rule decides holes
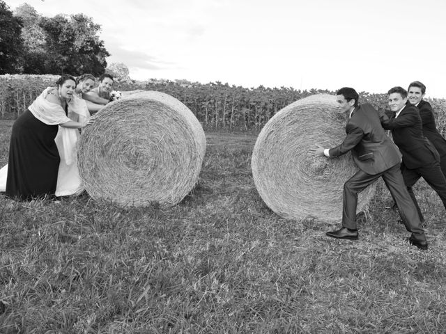
[[[432,143],[423,136],[420,113],[416,106],[407,103],[407,91],[394,87],[387,94],[393,113],[390,118],[381,114],[381,124],[384,129],[392,130],[394,143],[403,154],[401,172],[404,183],[422,220],[422,213],[412,189],[420,177],[438,193],[446,209],[446,178],[440,168],[440,156]]]

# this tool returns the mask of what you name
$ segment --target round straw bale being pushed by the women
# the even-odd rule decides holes
[[[197,183],[205,150],[203,128],[187,106],[139,92],[107,104],[82,131],[79,174],[95,199],[175,204]]]

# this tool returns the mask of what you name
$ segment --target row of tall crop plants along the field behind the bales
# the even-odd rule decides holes
[[[48,86],[55,86],[55,75],[0,76],[0,117],[17,118]],[[285,106],[303,97],[328,90],[295,90],[293,88],[244,88],[220,82],[199,84],[189,81],[116,81],[116,90],[157,90],[176,97],[197,116],[205,128],[259,130]],[[362,102],[378,109],[387,107],[385,94],[360,93]],[[446,134],[446,101],[429,99],[440,132]]]

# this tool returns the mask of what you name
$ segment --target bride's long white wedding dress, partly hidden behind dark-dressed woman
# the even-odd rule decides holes
[[[68,118],[75,122],[86,122],[89,117],[90,112],[85,101],[77,96],[74,97],[72,102],[68,104]],[[56,138],[54,138],[61,157],[55,193],[57,197],[78,195],[84,190],[79,168],[77,168],[77,141],[79,135],[78,129],[68,129],[59,125]],[[7,176],[8,165],[0,169],[0,191],[6,191]]]

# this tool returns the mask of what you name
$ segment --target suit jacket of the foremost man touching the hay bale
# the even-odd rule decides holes
[[[353,160],[364,173],[376,175],[399,164],[401,153],[380,125],[378,111],[371,104],[360,104],[346,124],[341,145],[330,149],[330,157],[351,151]]]

